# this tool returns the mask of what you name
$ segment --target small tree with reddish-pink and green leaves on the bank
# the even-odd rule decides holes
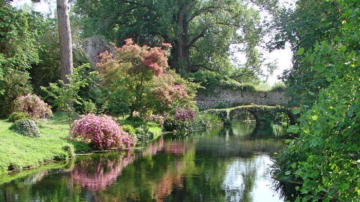
[[[166,46],[166,45],[165,45]],[[97,67],[110,102],[125,103],[133,113],[169,112],[176,106],[194,107],[194,84],[168,71],[167,50],[133,44],[131,39],[111,53],[101,54]]]

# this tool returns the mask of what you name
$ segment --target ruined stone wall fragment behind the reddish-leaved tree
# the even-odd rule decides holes
[[[87,41],[87,54],[90,59],[91,65],[96,65],[100,62],[99,54],[105,52],[106,50],[114,53],[114,48],[107,44],[104,39],[100,38],[88,38]]]

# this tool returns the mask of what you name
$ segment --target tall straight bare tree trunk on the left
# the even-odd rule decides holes
[[[60,39],[60,62],[61,80],[65,84],[70,83],[66,75],[73,74],[73,48],[71,44],[71,31],[69,12],[66,0],[57,0],[59,39]]]

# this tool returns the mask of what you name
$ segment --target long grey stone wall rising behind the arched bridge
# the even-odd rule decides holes
[[[233,107],[248,104],[275,106],[283,105],[287,102],[283,92],[249,92],[221,88],[215,89],[207,95],[198,92],[195,100],[200,110],[217,108],[219,106]]]

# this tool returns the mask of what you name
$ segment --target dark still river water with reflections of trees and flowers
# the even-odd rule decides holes
[[[234,123],[130,153],[0,176],[0,201],[284,201],[270,176],[284,129]]]

